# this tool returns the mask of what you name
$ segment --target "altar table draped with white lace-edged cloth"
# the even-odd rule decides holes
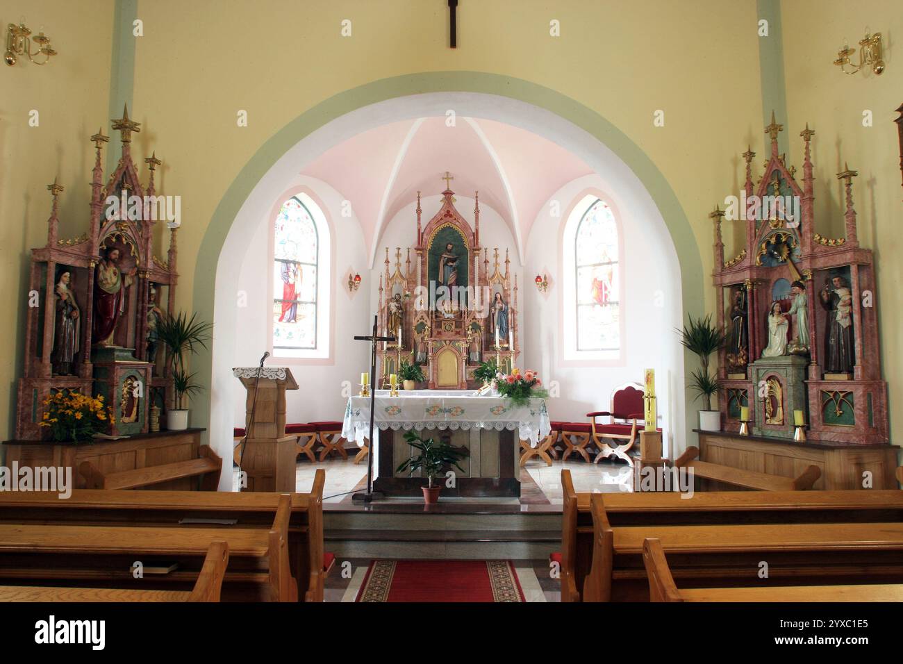
[[[461,460],[463,474],[453,470],[453,487],[442,484],[447,497],[520,496],[518,440],[536,445],[551,431],[545,399],[531,398],[525,406],[514,406],[501,397],[478,397],[475,392],[411,390],[390,397],[377,390],[374,409],[376,469],[374,489],[386,496],[420,496],[426,480],[419,475],[396,472],[412,455],[405,431],[445,439],[467,451]],[[368,444],[370,397],[350,397],[342,423],[342,436],[358,445]],[[442,478],[441,478],[442,479]],[[444,479],[442,479],[444,482]]]

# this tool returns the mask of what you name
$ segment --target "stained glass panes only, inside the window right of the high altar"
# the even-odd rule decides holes
[[[599,199],[583,213],[574,257],[576,351],[619,351],[618,224]]]

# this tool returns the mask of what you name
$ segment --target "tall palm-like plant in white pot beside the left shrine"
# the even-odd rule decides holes
[[[207,348],[213,325],[195,320],[197,315],[192,313],[189,318],[179,312],[165,315],[157,323],[158,342],[166,349],[166,364],[172,379],[173,404],[166,412],[166,428],[171,431],[188,428],[188,397],[201,389],[193,380],[195,374],[185,367],[185,356],[196,352],[199,346]]]

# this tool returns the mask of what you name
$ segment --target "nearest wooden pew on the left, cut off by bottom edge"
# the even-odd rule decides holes
[[[227,566],[228,544],[220,539],[210,543],[190,592],[0,585],[0,602],[219,602]]]

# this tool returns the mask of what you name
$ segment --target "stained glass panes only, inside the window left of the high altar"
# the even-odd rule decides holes
[[[308,206],[293,196],[283,203],[275,220],[272,278],[276,356],[317,348],[319,250],[317,222]]]

